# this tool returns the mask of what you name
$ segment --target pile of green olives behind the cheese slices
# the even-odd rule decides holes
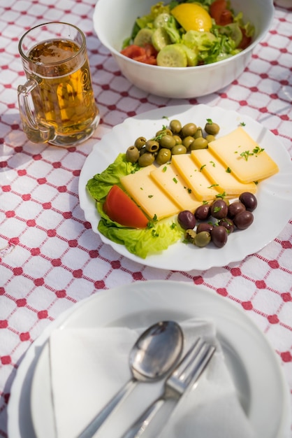
[[[180,120],[171,120],[169,127],[156,132],[154,139],[138,137],[126,150],[126,160],[147,167],[156,162],[166,164],[172,155],[185,154],[194,149],[205,149],[219,132],[219,125],[207,119],[204,131],[194,123],[182,125]]]

